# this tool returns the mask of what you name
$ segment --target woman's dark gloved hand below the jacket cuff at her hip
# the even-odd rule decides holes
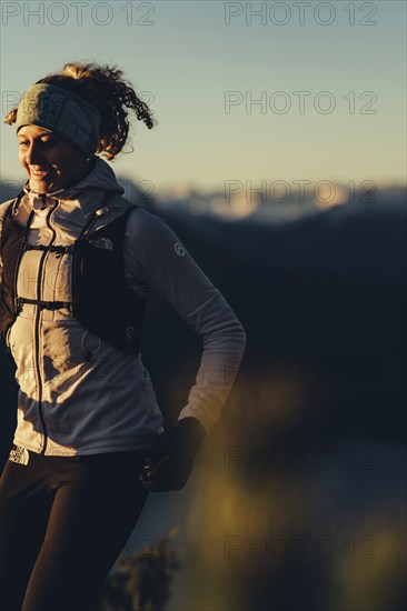
[[[153,492],[183,488],[205,437],[206,431],[196,418],[182,418],[176,427],[159,434],[139,474],[143,487]]]

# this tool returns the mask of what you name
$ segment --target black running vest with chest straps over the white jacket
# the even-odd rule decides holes
[[[2,290],[0,294],[0,335],[7,335],[23,302],[37,303],[40,308],[69,308],[72,315],[89,331],[127,354],[140,351],[142,318],[146,299],[137,296],[128,286],[123,263],[126,222],[132,204],[107,226],[90,230],[97,210],[71,246],[27,244],[27,234],[33,216],[30,213],[27,228],[12,218],[12,212],[22,198],[21,192],[10,202],[1,232]],[[42,301],[17,296],[17,274],[24,250],[68,252],[72,256],[72,302]]]

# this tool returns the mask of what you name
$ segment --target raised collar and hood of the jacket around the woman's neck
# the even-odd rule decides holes
[[[82,204],[85,200],[88,200],[88,196],[95,192],[93,190],[110,191],[111,193],[122,196],[125,189],[118,183],[116,174],[110,166],[98,156],[95,156],[93,160],[93,168],[85,178],[68,188],[46,193],[47,200],[77,200]],[[38,193],[30,191],[29,180],[27,180],[23,191],[33,200],[33,203],[36,200],[41,200],[43,203],[43,196],[40,197]],[[97,193],[96,197],[98,197]],[[47,201],[47,204],[51,202]]]

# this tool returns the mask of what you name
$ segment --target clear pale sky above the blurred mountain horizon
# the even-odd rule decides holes
[[[132,114],[135,150],[111,167],[152,190],[405,182],[403,0],[2,1],[1,11],[2,116],[68,61],[116,64],[158,126]],[[22,181],[14,128],[0,130],[1,180]]]

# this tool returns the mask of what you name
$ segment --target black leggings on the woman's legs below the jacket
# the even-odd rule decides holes
[[[1,611],[96,611],[146,503],[142,452],[7,461],[0,479]]]

